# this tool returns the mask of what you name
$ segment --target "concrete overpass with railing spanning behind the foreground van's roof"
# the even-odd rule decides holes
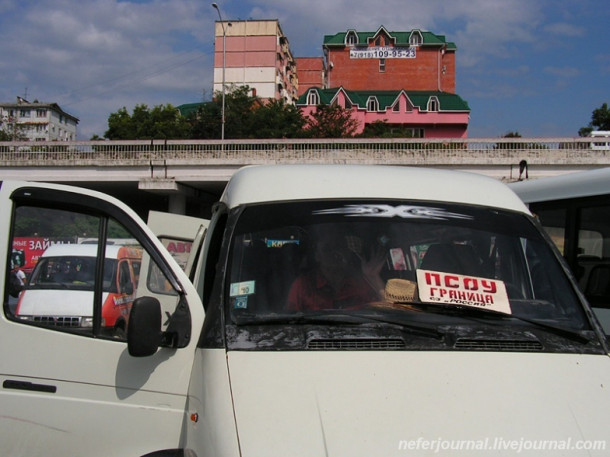
[[[142,215],[155,209],[205,216],[231,175],[246,165],[391,164],[462,170],[512,182],[610,166],[610,151],[593,150],[590,142],[588,138],[1,142],[0,179],[100,190]]]

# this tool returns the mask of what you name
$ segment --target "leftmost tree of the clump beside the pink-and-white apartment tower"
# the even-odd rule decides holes
[[[110,140],[148,140],[189,138],[191,128],[177,108],[170,104],[136,105],[130,115],[125,107],[108,117],[104,137]]]

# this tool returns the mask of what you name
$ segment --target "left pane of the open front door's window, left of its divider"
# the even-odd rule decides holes
[[[95,216],[16,208],[5,312],[22,322],[93,335],[96,254],[70,251],[70,246],[96,237],[100,227]],[[94,252],[92,245],[88,248]]]

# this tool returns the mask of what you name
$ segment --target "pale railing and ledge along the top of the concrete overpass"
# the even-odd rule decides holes
[[[590,138],[136,140],[0,142],[0,166],[386,163],[610,165]]]

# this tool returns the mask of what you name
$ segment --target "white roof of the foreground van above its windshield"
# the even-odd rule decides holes
[[[475,173],[386,165],[262,165],[238,170],[221,201],[248,203],[335,198],[465,203],[527,213],[503,183]]]

